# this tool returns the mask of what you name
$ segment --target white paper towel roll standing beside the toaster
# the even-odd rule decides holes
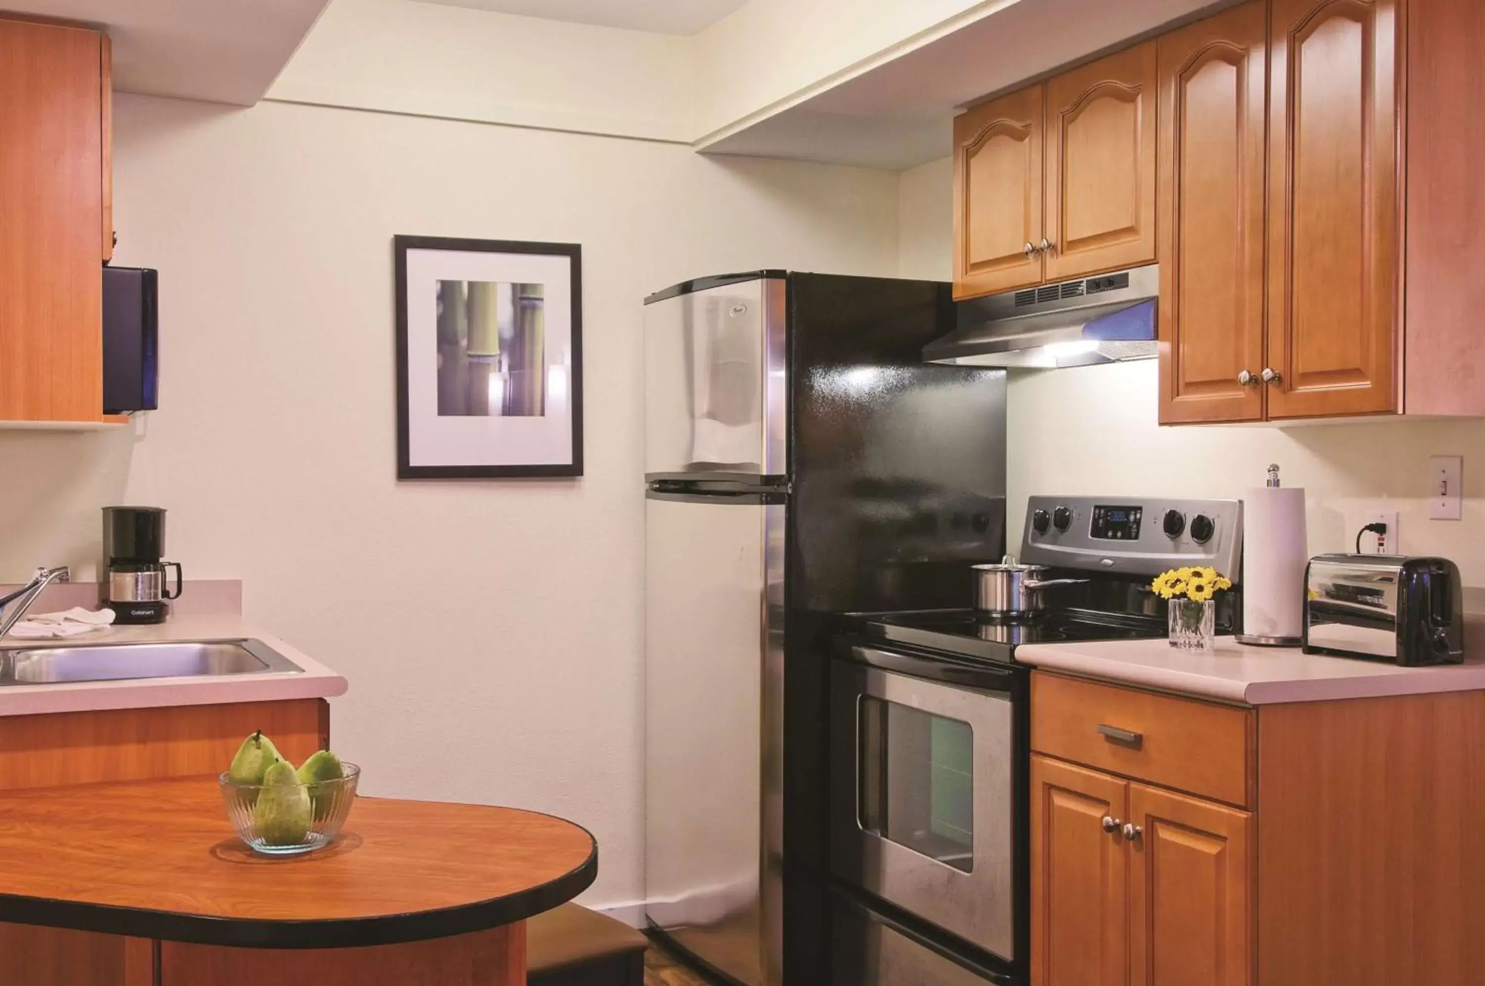
[[[1302,489],[1247,492],[1243,497],[1243,637],[1299,643],[1307,543]]]

